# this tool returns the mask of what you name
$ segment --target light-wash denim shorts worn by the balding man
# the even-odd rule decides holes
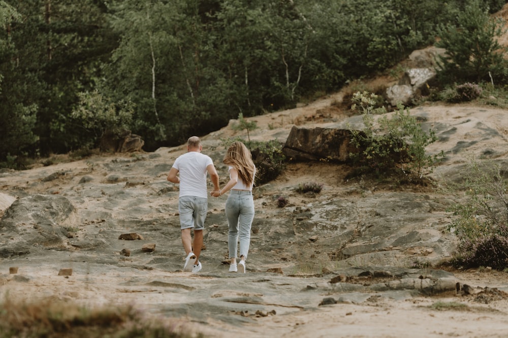
[[[203,197],[182,196],[178,199],[180,229],[203,230],[208,211],[208,200]]]

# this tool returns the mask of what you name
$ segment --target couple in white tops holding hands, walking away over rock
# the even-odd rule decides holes
[[[220,189],[219,176],[212,159],[202,151],[201,140],[197,136],[187,140],[187,153],[179,156],[168,174],[168,181],[180,184],[178,212],[185,265],[183,271],[199,272],[202,269],[199,255],[203,246],[203,229],[208,211],[206,176],[213,183],[213,197],[229,193],[226,201],[228,219],[228,249],[231,264],[229,271],[245,272],[245,260],[250,246],[250,229],[254,219],[252,186],[256,167],[252,157],[242,142],[233,142],[224,157],[228,165],[230,180]],[[194,241],[190,231],[194,229]],[[240,261],[237,262],[238,241],[240,242]]]

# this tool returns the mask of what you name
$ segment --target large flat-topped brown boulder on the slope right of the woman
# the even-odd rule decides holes
[[[351,130],[334,128],[299,128],[293,126],[282,153],[289,159],[347,162],[357,148],[351,144]]]

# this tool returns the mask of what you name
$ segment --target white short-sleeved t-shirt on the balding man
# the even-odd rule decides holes
[[[212,159],[198,152],[185,153],[175,160],[173,168],[180,172],[180,197],[208,198],[206,167],[210,164],[213,164]]]

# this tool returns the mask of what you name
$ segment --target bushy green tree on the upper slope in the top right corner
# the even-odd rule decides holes
[[[508,49],[499,44],[497,37],[506,32],[504,21],[491,18],[485,2],[472,0],[456,22],[441,24],[437,47],[447,54],[440,57],[438,76],[444,83],[494,82],[506,83]]]

